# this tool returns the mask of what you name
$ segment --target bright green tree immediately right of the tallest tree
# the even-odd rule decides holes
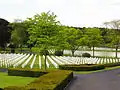
[[[65,34],[66,42],[68,43],[68,49],[71,50],[72,56],[74,56],[74,52],[78,50],[81,45],[80,39],[83,33],[79,29],[69,27],[66,27],[63,30],[63,33]]]

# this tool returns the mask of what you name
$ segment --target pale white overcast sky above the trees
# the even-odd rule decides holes
[[[63,25],[103,27],[120,19],[120,0],[0,0],[0,18],[9,22],[48,11]]]

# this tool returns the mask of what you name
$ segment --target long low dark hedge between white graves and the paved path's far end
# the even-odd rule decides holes
[[[104,65],[93,65],[93,64],[86,64],[86,65],[60,65],[59,69],[62,70],[73,70],[73,71],[94,71],[94,70],[101,70],[104,69]]]

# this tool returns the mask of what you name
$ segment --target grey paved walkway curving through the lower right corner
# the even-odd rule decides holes
[[[74,77],[65,90],[120,90],[120,69]]]

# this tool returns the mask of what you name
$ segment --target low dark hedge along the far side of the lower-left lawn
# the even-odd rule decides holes
[[[21,68],[8,69],[8,75],[10,76],[39,77],[47,73],[48,72],[40,71],[39,69],[21,69]]]

